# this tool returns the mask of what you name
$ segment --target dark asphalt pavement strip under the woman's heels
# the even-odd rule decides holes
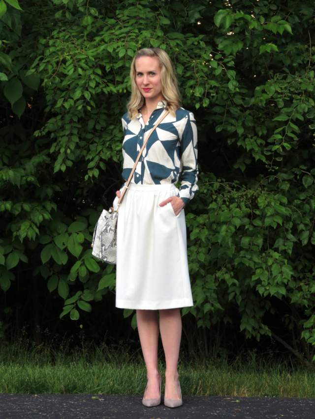
[[[0,419],[315,419],[315,399],[183,396],[145,407],[139,395],[0,394]]]

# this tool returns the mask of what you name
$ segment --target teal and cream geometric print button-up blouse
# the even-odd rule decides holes
[[[143,141],[164,112],[166,102],[158,103],[148,122],[141,112],[133,119],[127,113],[122,118],[124,128],[123,178],[129,177]],[[131,183],[164,185],[181,179],[179,196],[188,204],[198,190],[197,128],[191,112],[180,108],[176,115],[169,113],[152,133],[134,171]]]

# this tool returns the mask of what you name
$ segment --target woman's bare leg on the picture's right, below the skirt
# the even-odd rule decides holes
[[[179,308],[159,310],[159,330],[166,361],[165,398],[180,399],[177,363],[182,336],[182,319]]]

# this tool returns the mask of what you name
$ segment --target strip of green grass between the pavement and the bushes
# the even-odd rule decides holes
[[[248,356],[233,363],[183,360],[183,394],[208,396],[315,397],[315,371]],[[161,362],[161,372],[165,365]],[[2,393],[142,394],[146,370],[140,353],[95,347],[65,355],[50,348],[0,349]]]

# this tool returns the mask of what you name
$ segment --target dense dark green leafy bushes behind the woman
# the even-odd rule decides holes
[[[90,242],[121,183],[130,63],[153,46],[199,129],[183,348],[312,363],[313,1],[1,0],[0,15],[2,344],[23,328],[137,339]]]

